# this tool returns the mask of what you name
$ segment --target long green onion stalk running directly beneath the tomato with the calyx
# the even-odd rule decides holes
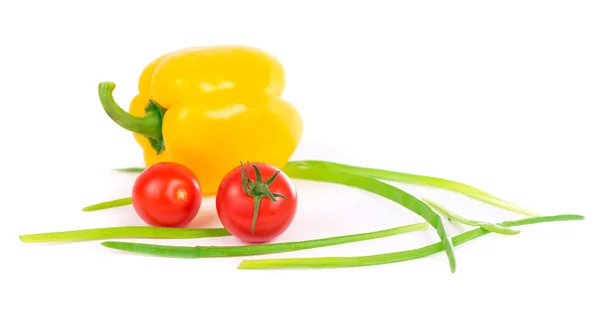
[[[226,256],[245,256],[268,253],[281,253],[290,251],[299,251],[326,247],[344,243],[358,242],[376,238],[383,238],[393,235],[404,234],[413,231],[426,230],[429,228],[427,223],[417,223],[391,229],[374,231],[369,233],[331,237],[324,239],[314,239],[298,242],[283,242],[273,244],[242,245],[242,246],[168,246],[132,242],[103,242],[102,245],[111,249],[176,258],[200,258],[200,257],[226,257]]]

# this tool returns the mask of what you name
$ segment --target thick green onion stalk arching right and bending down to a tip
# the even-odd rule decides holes
[[[452,249],[452,242],[450,241],[450,237],[448,237],[446,227],[444,227],[444,222],[442,221],[442,218],[425,202],[382,181],[349,172],[312,167],[296,168],[293,166],[286,166],[284,167],[283,171],[290,178],[331,182],[360,188],[388,198],[413,211],[436,229],[436,232],[442,241],[442,245],[444,246],[444,250],[446,251],[446,255],[448,256],[450,270],[452,272],[456,271],[456,259]]]

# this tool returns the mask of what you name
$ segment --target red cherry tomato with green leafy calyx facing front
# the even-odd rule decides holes
[[[256,170],[260,175],[258,179]],[[248,180],[246,190],[242,184],[242,171]],[[273,194],[271,198],[275,201],[269,198],[267,191]],[[259,204],[253,231],[256,199]],[[292,180],[276,167],[256,163],[245,165],[242,169],[240,165],[221,181],[216,205],[219,220],[230,234],[248,243],[268,242],[281,235],[292,223],[296,215],[296,188]]]

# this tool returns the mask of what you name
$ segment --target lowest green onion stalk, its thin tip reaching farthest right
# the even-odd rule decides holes
[[[504,227],[530,225],[543,222],[555,221],[574,221],[583,220],[581,215],[556,215],[556,216],[540,216],[531,217],[517,221],[508,221],[500,223]],[[454,238],[452,242],[454,246],[461,245],[465,242],[474,240],[481,236],[487,235],[490,232],[483,228],[477,228],[464,232]],[[355,257],[319,257],[319,258],[283,258],[283,259],[257,259],[244,260],[238,266],[239,269],[275,269],[275,268],[342,268],[342,267],[359,267],[372,266],[414,260],[433,255],[444,250],[441,242],[434,243],[422,248],[370,255],[370,256],[355,256]]]

